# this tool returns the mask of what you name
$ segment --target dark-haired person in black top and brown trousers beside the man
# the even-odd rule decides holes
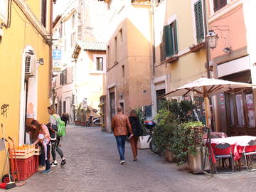
[[[135,110],[132,110],[130,112],[129,122],[132,125],[132,132],[134,134],[134,137],[131,137],[129,141],[132,147],[132,154],[134,156],[134,161],[137,161],[137,155],[138,155],[137,143],[138,143],[139,136],[143,135],[143,131],[142,131],[142,124],[140,123],[139,117]]]

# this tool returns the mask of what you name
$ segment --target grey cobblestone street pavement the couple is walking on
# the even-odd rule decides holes
[[[255,191],[256,172],[193,175],[178,171],[149,149],[139,150],[138,161],[133,162],[129,143],[126,164],[119,165],[113,135],[97,127],[69,126],[62,149],[65,166],[58,165],[47,175],[36,173],[26,185],[9,191]]]

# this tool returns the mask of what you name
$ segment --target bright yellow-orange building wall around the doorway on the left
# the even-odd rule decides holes
[[[32,2],[32,1],[31,1]],[[36,6],[31,4],[31,9]],[[38,6],[36,6],[38,9]],[[48,19],[49,21],[49,19]],[[43,58],[45,65],[38,68],[38,120],[47,122],[48,113],[46,107],[49,105],[49,46],[44,43],[42,36],[32,26],[23,12],[12,1],[11,26],[4,28],[4,36],[0,43],[0,105],[7,104],[5,115],[0,114],[0,124],[4,125],[5,137],[14,139],[15,144],[19,140],[20,122],[20,99],[21,99],[21,71],[22,53],[26,46],[32,46],[37,58]],[[3,137],[0,127],[0,137]],[[3,169],[5,161],[4,151],[0,151],[0,170]],[[5,170],[7,171],[7,169]]]

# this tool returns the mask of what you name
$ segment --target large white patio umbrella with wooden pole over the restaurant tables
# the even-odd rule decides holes
[[[209,97],[217,95],[220,92],[231,91],[235,88],[244,88],[244,87],[256,87],[256,85],[242,83],[242,82],[233,82],[228,80],[219,80],[219,79],[209,79],[209,78],[200,78],[193,82],[190,82],[186,85],[176,88],[171,92],[162,95],[161,97],[176,97],[176,96],[190,96],[193,92],[194,96],[204,97],[205,107],[206,107],[206,126],[210,125],[210,105]]]

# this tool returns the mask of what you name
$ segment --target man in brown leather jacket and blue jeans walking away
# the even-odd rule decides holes
[[[117,140],[117,149],[120,156],[119,164],[124,164],[124,150],[125,150],[125,140],[128,134],[127,128],[132,134],[132,127],[129,123],[129,118],[127,115],[123,114],[122,107],[117,108],[117,115],[112,118],[112,131],[114,132],[114,137]]]

